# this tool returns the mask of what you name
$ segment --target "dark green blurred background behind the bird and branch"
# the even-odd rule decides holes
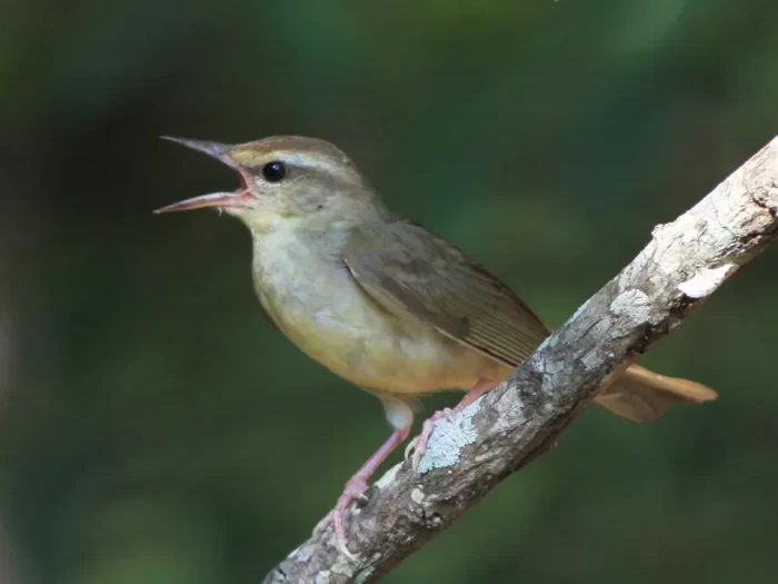
[[[237,186],[159,135],[331,140],[557,326],[777,132],[777,20],[6,0],[0,582],[258,582],[389,430],[262,318],[243,227],[151,215]],[[641,362],[719,402],[648,426],[587,410],[386,582],[776,582],[777,293],[774,250]]]

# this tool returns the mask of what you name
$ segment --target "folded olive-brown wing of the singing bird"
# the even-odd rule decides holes
[[[429,324],[507,365],[523,362],[549,335],[510,288],[419,225],[359,226],[343,261],[386,310]]]

